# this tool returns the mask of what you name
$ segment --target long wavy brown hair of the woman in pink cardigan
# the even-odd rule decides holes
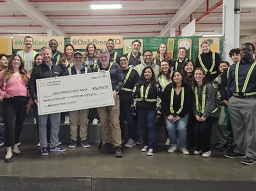
[[[13,55],[11,56],[10,60],[8,61],[7,69],[6,69],[5,72],[4,72],[3,80],[8,81],[8,80],[12,77],[12,75],[14,74],[12,63],[13,63],[13,60],[14,60],[14,58],[15,58],[16,56],[19,57],[19,58],[20,58],[20,61],[21,61],[21,65],[20,65],[20,67],[19,67],[19,71],[20,71],[20,73],[21,73],[21,75],[22,75],[21,78],[22,78],[22,80],[23,80],[24,82],[27,83],[27,82],[29,82],[28,72],[27,72],[27,70],[24,69],[24,62],[23,62],[23,60],[22,60],[22,58],[21,58],[21,56],[20,56],[19,54],[13,54]]]

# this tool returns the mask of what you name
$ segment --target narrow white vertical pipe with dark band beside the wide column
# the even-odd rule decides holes
[[[234,47],[240,46],[240,0],[235,0]]]

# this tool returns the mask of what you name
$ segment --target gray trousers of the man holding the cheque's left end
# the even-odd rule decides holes
[[[58,133],[59,133],[59,123],[60,123],[60,113],[54,114],[44,114],[39,116],[39,140],[41,148],[47,147],[47,118],[50,118],[51,121],[51,132],[50,132],[50,141],[51,147],[56,147],[59,142]]]

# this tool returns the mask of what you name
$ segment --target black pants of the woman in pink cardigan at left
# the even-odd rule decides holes
[[[13,98],[5,98],[4,104],[4,145],[12,147],[20,140],[23,123],[27,116],[28,97],[17,96]]]

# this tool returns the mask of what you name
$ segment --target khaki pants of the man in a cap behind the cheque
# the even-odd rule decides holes
[[[76,141],[77,139],[77,128],[80,124],[80,138],[81,140],[87,139],[87,118],[89,114],[89,109],[69,111],[70,117],[70,139]]]

